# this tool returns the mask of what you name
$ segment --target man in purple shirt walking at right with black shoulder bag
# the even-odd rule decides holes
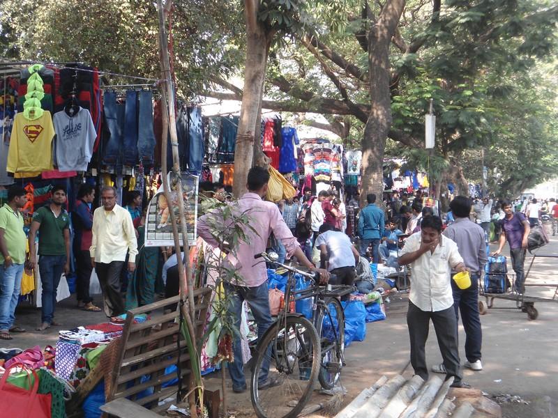
[[[525,215],[521,212],[513,212],[513,206],[510,201],[504,201],[502,208],[506,217],[502,219],[502,234],[500,234],[500,242],[498,249],[492,256],[499,256],[508,240],[510,245],[511,266],[515,272],[515,291],[523,293],[525,291],[525,254],[527,252],[527,238],[531,227]]]

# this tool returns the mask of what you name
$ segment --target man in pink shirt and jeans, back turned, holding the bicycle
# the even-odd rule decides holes
[[[246,213],[250,217],[250,227],[245,228],[246,242],[239,242],[235,251],[229,251],[227,243],[218,242],[213,236],[211,225],[218,222],[219,212],[211,212],[197,221],[197,232],[206,242],[214,247],[220,247],[227,252],[226,262],[229,268],[236,269],[243,281],[238,283],[223,282],[225,292],[229,300],[229,313],[234,318],[234,327],[238,330],[241,322],[242,302],[246,300],[257,323],[258,338],[261,339],[264,332],[272,323],[269,312],[269,292],[267,289],[266,263],[262,258],[255,259],[255,256],[266,251],[267,240],[273,232],[275,237],[280,240],[287,249],[289,256],[294,256],[309,270],[319,272],[320,281],[327,282],[329,273],[315,267],[306,258],[299,246],[299,242],[292,235],[291,230],[285,224],[281,212],[275,203],[263,201],[262,198],[267,194],[269,173],[262,167],[252,167],[248,171],[248,181],[246,188],[248,192],[244,194],[236,203],[238,213]],[[253,229],[253,231],[252,231]],[[257,233],[255,233],[256,231]],[[234,253],[234,254],[233,254]],[[246,378],[243,372],[243,359],[241,341],[238,334],[233,336],[234,362],[229,363],[229,374],[232,378],[232,389],[236,393],[246,390]],[[258,388],[264,389],[271,387],[275,382],[267,377],[269,362],[263,364],[263,373],[260,373],[262,382]]]

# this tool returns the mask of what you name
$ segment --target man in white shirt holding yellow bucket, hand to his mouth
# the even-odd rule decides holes
[[[446,380],[453,377],[451,386],[462,387],[458,323],[453,310],[450,276],[452,269],[455,272],[466,269],[457,244],[442,236],[442,219],[437,216],[423,219],[421,232],[414,233],[405,241],[399,264],[408,264],[411,268],[407,326],[414,373],[428,380],[424,348],[432,320],[444,359]]]

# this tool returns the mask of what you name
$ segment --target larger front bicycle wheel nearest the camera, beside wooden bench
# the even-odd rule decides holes
[[[258,343],[252,371],[250,395],[256,415],[259,418],[299,415],[312,396],[319,356],[318,334],[308,319],[287,316],[271,325]],[[270,380],[272,384],[265,387]]]

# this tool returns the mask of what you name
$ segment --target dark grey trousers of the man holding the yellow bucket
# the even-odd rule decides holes
[[[428,366],[426,365],[425,344],[428,339],[430,320],[434,324],[438,346],[444,359],[446,380],[453,376],[453,383],[461,382],[461,371],[458,350],[458,322],[455,318],[453,306],[443,311],[430,312],[418,309],[409,301],[407,311],[407,326],[411,339],[411,364],[414,373],[428,380]]]

